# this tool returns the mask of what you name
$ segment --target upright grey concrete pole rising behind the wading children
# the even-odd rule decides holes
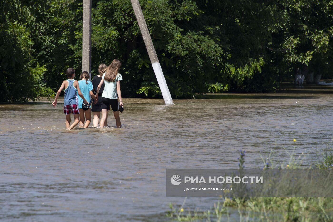
[[[91,80],[91,0],[83,0],[82,72],[89,72]]]

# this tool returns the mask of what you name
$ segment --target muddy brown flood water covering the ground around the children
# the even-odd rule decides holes
[[[122,129],[68,131],[62,104],[46,100],[0,104],[0,220],[169,221],[169,203],[184,198],[166,197],[166,169],[237,169],[240,149],[246,168],[262,168],[260,155],[272,152],[282,164],[288,153],[314,164],[333,138],[332,89],[212,94],[171,106],[124,98]],[[187,198],[184,208],[216,202]]]

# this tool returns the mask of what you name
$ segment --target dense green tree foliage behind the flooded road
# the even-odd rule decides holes
[[[81,73],[82,0],[0,2],[0,101],[51,96],[68,67]],[[160,95],[131,1],[92,2],[92,74],[117,58],[124,97]],[[174,97],[276,91],[300,70],[332,78],[333,1],[140,3]]]

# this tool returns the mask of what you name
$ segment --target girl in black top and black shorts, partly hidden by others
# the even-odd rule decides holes
[[[96,94],[96,91],[97,91],[97,87],[98,85],[100,84],[101,80],[102,80],[102,75],[103,75],[103,72],[102,70],[106,69],[106,65],[104,63],[101,63],[98,67],[98,72],[100,73],[99,75],[97,76],[94,76],[94,79],[92,81],[93,83],[93,92],[94,94],[96,95],[96,97],[98,97],[98,101],[96,104],[93,104],[93,107],[91,108],[91,111],[94,112],[94,127],[97,127],[98,126],[98,122],[100,120],[100,114],[101,114],[101,111],[102,111],[102,107],[101,107],[101,100],[102,100],[102,93],[104,91],[104,83],[102,84],[101,86],[101,89],[98,93],[98,95]],[[106,114],[106,119],[104,121],[104,125],[108,125],[108,114],[109,114],[109,110],[107,111],[107,114]]]

